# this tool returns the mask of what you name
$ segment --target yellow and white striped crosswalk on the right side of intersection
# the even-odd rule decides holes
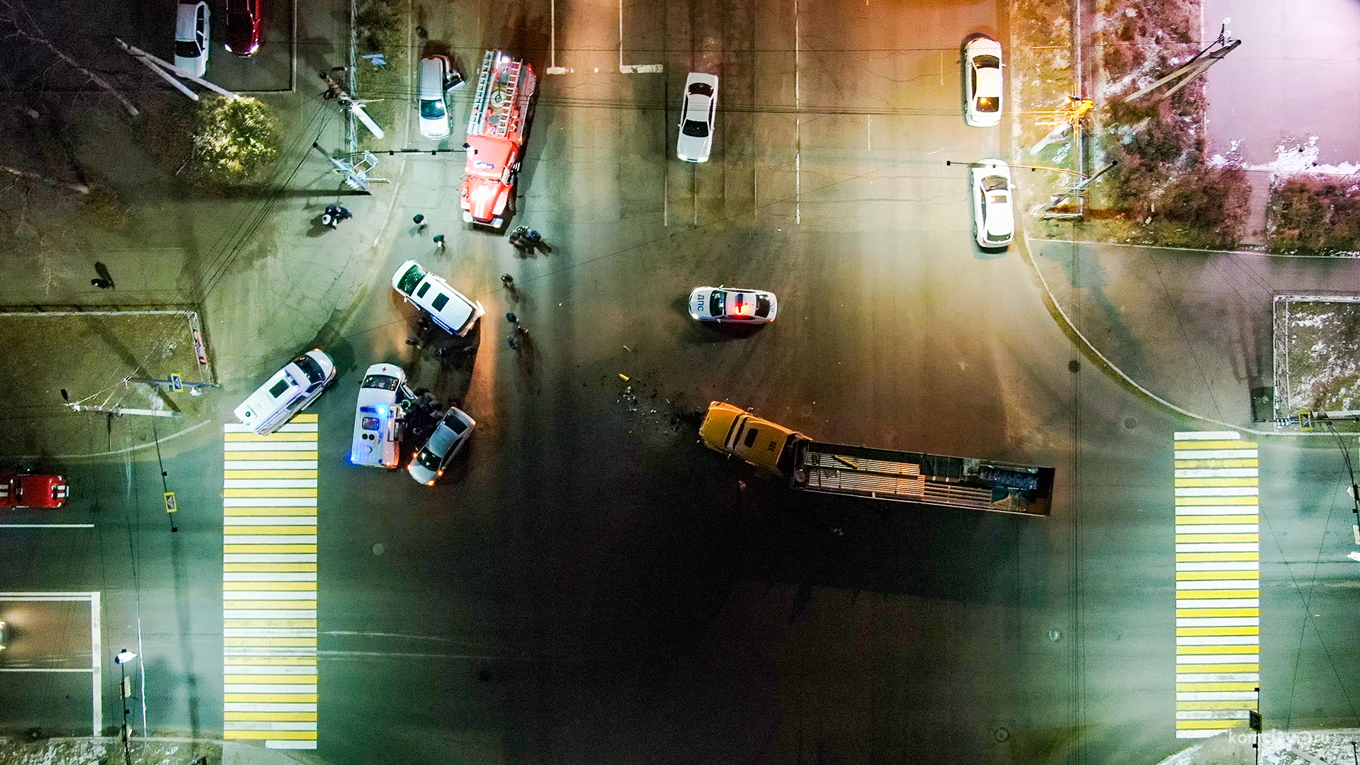
[[[1175,434],[1176,738],[1240,727],[1261,685],[1257,445]]]

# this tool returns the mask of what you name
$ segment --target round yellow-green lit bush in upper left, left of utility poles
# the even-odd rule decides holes
[[[254,98],[205,97],[194,113],[192,177],[212,185],[258,180],[279,157],[279,125]]]

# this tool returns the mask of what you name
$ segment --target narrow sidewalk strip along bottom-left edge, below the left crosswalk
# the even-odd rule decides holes
[[[205,765],[298,765],[317,762],[292,753],[235,740],[188,738],[133,738],[132,765],[188,765],[205,757]],[[122,765],[122,745],[117,736],[45,738],[27,740],[0,736],[0,765],[94,765],[107,761]]]

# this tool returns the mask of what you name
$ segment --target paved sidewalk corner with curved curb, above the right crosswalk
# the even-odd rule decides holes
[[[1274,295],[1360,293],[1360,259],[1025,244],[1058,308],[1110,363],[1231,426],[1254,427],[1251,389],[1273,385]]]

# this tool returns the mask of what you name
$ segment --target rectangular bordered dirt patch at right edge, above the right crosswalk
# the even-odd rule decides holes
[[[1274,302],[1276,417],[1360,410],[1360,299]]]

